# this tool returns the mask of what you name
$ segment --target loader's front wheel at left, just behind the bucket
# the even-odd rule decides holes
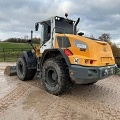
[[[28,69],[26,60],[19,58],[16,65],[17,76],[20,80],[32,80],[35,76],[36,69]]]

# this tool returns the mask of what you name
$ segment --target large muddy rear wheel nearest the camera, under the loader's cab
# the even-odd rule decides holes
[[[42,81],[46,91],[54,95],[60,95],[66,90],[70,90],[72,86],[65,62],[63,63],[57,58],[45,61],[42,69]]]

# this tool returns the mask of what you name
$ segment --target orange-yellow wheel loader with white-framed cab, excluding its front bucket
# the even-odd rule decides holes
[[[54,16],[36,22],[41,30],[40,45],[23,51],[16,70],[20,80],[31,80],[36,73],[42,78],[45,89],[54,95],[69,90],[73,83],[93,84],[116,74],[117,65],[107,42],[77,34],[80,21]],[[41,26],[40,26],[41,25]],[[32,33],[31,33],[32,38]]]

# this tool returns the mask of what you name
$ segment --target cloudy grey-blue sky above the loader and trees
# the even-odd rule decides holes
[[[66,12],[70,19],[80,17],[78,28],[86,36],[109,33],[120,42],[120,0],[0,0],[0,40],[30,36],[35,22]]]

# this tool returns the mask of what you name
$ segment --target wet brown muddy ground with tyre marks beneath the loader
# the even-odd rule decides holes
[[[0,63],[0,120],[120,120],[119,76],[54,96],[38,78],[23,82],[5,76],[4,68],[12,64]]]

